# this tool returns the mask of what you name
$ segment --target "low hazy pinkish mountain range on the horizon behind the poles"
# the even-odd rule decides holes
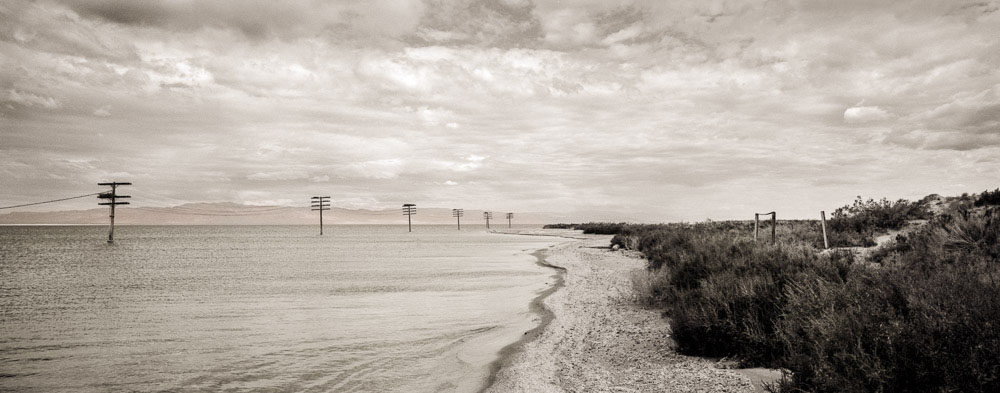
[[[420,208],[413,216],[414,225],[454,224],[448,208]],[[550,224],[600,220],[573,220],[574,214],[514,212],[514,224]],[[0,225],[88,225],[106,224],[108,209],[53,212],[11,212],[0,214]],[[323,212],[323,222],[338,224],[406,224],[400,209],[352,210],[332,208]],[[122,206],[116,209],[115,224],[122,225],[312,225],[319,223],[319,213],[308,207],[248,206],[236,203],[189,203],[173,207]],[[466,210],[463,225],[485,225],[483,210]],[[507,225],[506,212],[494,212],[492,225]]]

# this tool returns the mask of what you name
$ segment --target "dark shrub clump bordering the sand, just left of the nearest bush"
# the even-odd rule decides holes
[[[680,351],[776,364],[783,356],[775,322],[784,308],[785,285],[803,274],[841,277],[830,257],[794,238],[779,237],[774,246],[755,244],[752,225],[640,228],[635,245],[646,255],[650,271],[633,283],[642,303],[662,307],[670,316]]]

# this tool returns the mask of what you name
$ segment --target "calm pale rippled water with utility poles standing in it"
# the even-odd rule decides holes
[[[0,227],[0,390],[476,391],[557,240],[464,229]]]

